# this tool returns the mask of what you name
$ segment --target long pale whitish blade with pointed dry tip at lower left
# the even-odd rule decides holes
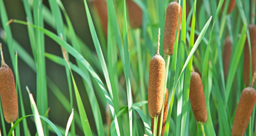
[[[32,113],[34,114],[34,121],[35,121],[35,127],[37,128],[37,133],[39,136],[44,136],[43,126],[41,123],[41,119],[39,117],[37,105],[35,104],[34,98],[33,98],[32,94],[30,93],[28,86],[26,86],[26,89],[28,91]],[[18,121],[17,121],[17,123],[18,123]]]

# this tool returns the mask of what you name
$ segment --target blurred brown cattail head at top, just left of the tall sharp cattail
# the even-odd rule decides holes
[[[129,12],[131,28],[140,28],[142,24],[141,8],[133,0],[127,0],[127,7]]]

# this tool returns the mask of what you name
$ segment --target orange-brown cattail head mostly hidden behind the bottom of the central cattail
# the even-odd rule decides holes
[[[166,88],[166,94],[165,94],[165,107],[163,108],[163,122],[162,122],[162,131],[161,136],[165,134],[165,124],[166,124],[166,118],[167,118],[167,106],[168,106],[168,89]],[[160,119],[157,121],[157,134],[159,133],[159,126],[160,126]],[[154,118],[151,118],[151,130],[152,133],[154,131]]]

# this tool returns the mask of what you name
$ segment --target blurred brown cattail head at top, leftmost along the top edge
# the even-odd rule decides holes
[[[102,29],[105,36],[108,34],[108,8],[105,0],[92,0],[91,5],[95,8],[99,15]]]

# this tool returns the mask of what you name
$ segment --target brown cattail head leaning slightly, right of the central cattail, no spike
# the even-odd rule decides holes
[[[191,72],[189,98],[196,120],[205,123],[207,120],[206,103],[202,80],[197,72]]]

